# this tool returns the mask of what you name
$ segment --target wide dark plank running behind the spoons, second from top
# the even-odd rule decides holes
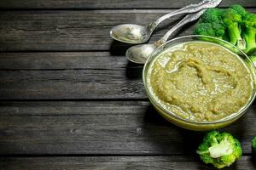
[[[113,42],[109,37],[113,26],[123,23],[146,24],[170,11],[172,10],[2,11],[0,51],[124,52],[125,45]],[[256,9],[250,11],[256,12]],[[163,36],[178,18],[173,17],[159,31],[154,32],[151,42]],[[191,30],[191,26],[183,28],[183,31],[173,36],[189,35]]]

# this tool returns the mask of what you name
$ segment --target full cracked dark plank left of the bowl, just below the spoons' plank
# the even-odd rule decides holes
[[[108,52],[0,54],[0,99],[146,99],[143,65]]]

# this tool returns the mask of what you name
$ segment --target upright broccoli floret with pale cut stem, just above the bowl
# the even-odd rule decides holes
[[[222,13],[224,25],[227,26],[230,42],[242,50],[245,49],[245,41],[241,38],[241,15],[232,8]]]

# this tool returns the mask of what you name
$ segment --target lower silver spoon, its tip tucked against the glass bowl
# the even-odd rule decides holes
[[[173,26],[171,30],[167,31],[164,37],[161,37],[160,40],[154,43],[141,44],[128,48],[125,54],[126,58],[133,63],[144,64],[148,59],[149,54],[151,54],[155,48],[158,48],[161,44],[165,43],[174,31],[177,31],[178,28],[184,26],[185,24],[188,24],[193,20],[199,19],[199,17],[205,12],[205,10],[206,9],[202,9],[195,14],[187,14],[183,18],[183,20],[177,23],[176,26]]]

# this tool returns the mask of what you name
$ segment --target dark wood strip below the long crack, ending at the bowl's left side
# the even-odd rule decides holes
[[[146,99],[141,70],[0,71],[0,99]]]

